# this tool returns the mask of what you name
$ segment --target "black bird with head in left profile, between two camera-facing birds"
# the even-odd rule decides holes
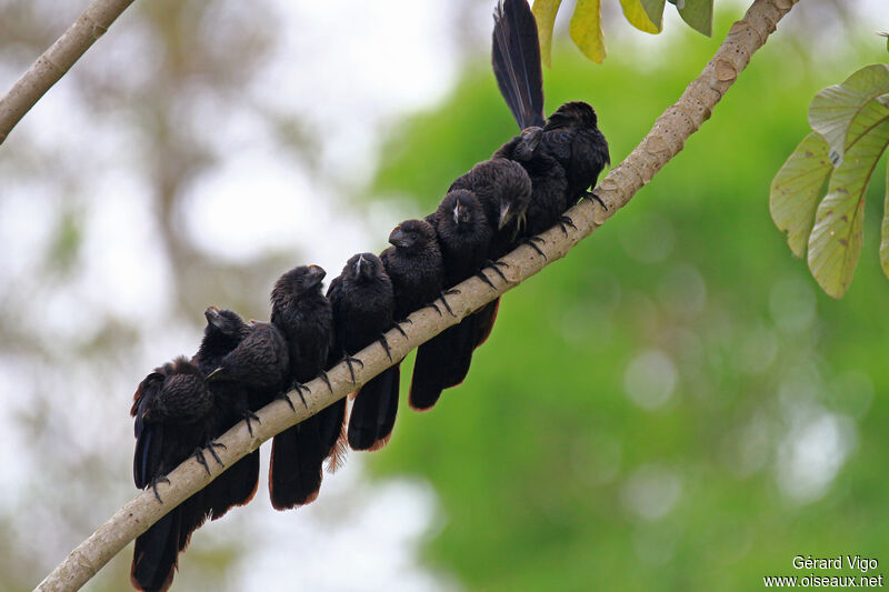
[[[392,245],[380,253],[380,260],[392,280],[396,321],[403,321],[411,312],[433,303],[439,294],[450,312],[447,293],[442,292],[448,284],[444,283],[444,259],[434,227],[427,220],[406,220],[392,230],[389,242]],[[485,255],[487,260],[487,252]],[[432,305],[441,314],[441,309],[434,303]],[[443,357],[449,345],[443,335],[442,332],[433,337],[417,350],[409,398],[414,409],[428,409],[434,404],[434,400],[427,401],[427,392],[443,382],[443,377],[438,378],[444,368]]]

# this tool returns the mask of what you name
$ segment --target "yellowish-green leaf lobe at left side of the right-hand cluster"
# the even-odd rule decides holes
[[[778,230],[787,232],[787,244],[797,257],[806,253],[818,198],[832,170],[827,142],[818,132],[811,132],[802,139],[771,182],[771,219]]]

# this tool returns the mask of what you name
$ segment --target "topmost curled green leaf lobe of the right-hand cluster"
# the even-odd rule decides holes
[[[835,165],[842,161],[851,146],[848,136],[852,120],[870,101],[887,92],[889,66],[875,63],[815,96],[809,106],[809,124],[830,144],[830,160]]]

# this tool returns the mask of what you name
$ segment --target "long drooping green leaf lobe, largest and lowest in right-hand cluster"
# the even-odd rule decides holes
[[[809,269],[830,297],[841,298],[852,281],[861,254],[865,191],[887,144],[889,118],[849,147],[816,212]]]

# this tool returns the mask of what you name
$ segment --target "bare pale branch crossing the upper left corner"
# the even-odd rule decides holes
[[[71,69],[133,0],[93,0],[0,99],[0,144],[40,98]]]

